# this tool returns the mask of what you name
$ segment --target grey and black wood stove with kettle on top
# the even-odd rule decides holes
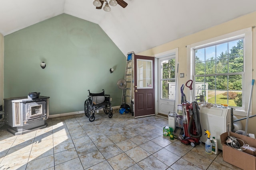
[[[5,124],[7,130],[14,135],[22,135],[47,126],[49,117],[49,98],[39,96],[4,99]]]

